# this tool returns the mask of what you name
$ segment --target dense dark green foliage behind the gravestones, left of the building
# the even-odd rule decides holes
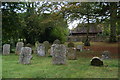
[[[3,3],[3,44],[11,41],[15,44],[18,39],[26,39],[26,43],[30,44],[45,40],[53,42],[57,38],[62,43],[66,41],[68,30],[63,14],[44,13],[48,10],[46,7],[52,9],[52,6],[58,3],[50,5],[48,2],[43,2],[36,11],[37,4],[33,2]]]

